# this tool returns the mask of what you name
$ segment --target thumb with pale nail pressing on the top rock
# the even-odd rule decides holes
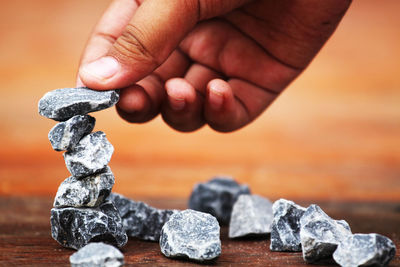
[[[79,77],[93,89],[132,85],[161,65],[198,21],[244,2],[248,1],[144,1],[108,53],[81,66]]]

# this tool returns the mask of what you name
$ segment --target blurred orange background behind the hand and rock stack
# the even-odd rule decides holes
[[[73,87],[110,1],[13,0],[0,8],[0,195],[53,197],[68,177],[37,102]],[[160,117],[95,113],[115,147],[115,192],[186,198],[216,174],[277,199],[400,201],[400,1],[354,1],[310,67],[261,117],[230,134],[190,134]]]

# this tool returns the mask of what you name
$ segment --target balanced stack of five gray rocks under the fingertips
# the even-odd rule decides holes
[[[52,237],[64,247],[79,249],[103,241],[117,247],[128,238],[114,204],[106,200],[114,185],[108,163],[113,146],[101,132],[92,132],[95,119],[87,113],[114,106],[117,91],[64,88],[46,93],[39,114],[59,121],[49,132],[54,150],[66,151],[71,177],[61,183],[51,209]]]

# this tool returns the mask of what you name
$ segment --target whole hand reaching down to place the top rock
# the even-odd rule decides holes
[[[259,116],[311,62],[351,0],[114,0],[77,86],[121,89],[119,115],[220,132]]]

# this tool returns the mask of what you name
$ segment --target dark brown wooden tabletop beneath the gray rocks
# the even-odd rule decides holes
[[[184,199],[146,199],[160,208],[185,208]],[[308,205],[309,201],[298,201]],[[333,218],[345,219],[354,233],[376,232],[391,238],[398,248],[389,266],[400,266],[399,203],[318,203]],[[68,266],[74,250],[61,247],[51,238],[49,216],[52,200],[33,197],[0,197],[0,266]],[[222,228],[222,255],[217,266],[307,266],[301,253],[269,250],[269,240],[230,240]],[[157,243],[130,239],[122,249],[125,266],[190,266],[195,263],[164,257]],[[323,263],[332,265],[333,262]]]

